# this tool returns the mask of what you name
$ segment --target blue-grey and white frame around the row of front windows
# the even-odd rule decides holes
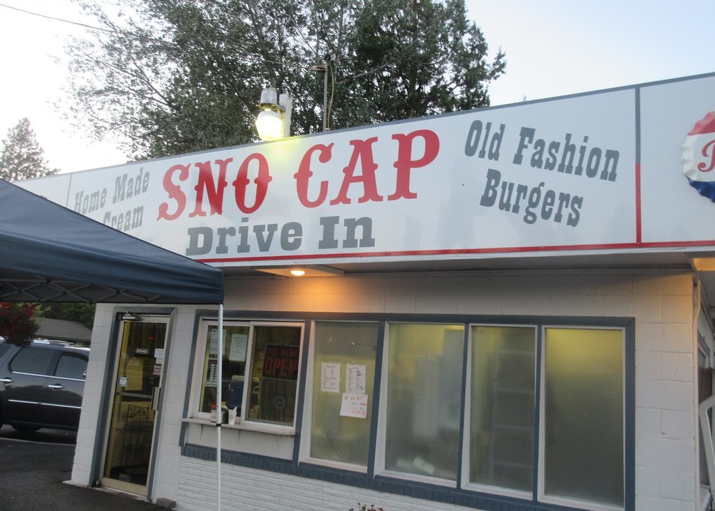
[[[199,319],[205,322],[203,318],[211,318],[207,314],[202,316],[197,314],[197,322],[194,326],[194,345],[198,349],[202,348],[205,342],[206,330],[202,334],[199,330]],[[215,316],[214,316],[215,317]],[[351,467],[340,465],[336,462],[322,460],[318,462],[310,457],[310,422],[312,421],[312,383],[315,372],[314,357],[315,357],[315,337],[313,334],[313,325],[315,322],[377,322],[377,352],[375,358],[375,397],[370,405],[373,412],[370,422],[370,447],[368,452],[368,467],[365,472],[365,467]],[[236,428],[243,430],[255,430],[262,433],[271,433],[274,435],[293,435],[295,434],[295,443],[293,445],[293,455],[290,459],[286,459],[280,463],[280,466],[273,467],[265,465],[262,462],[263,457],[259,453],[251,454],[250,452],[237,451],[237,456],[232,457],[235,465],[252,467],[255,464],[265,465],[265,470],[285,472],[286,470],[295,471],[295,474],[300,477],[317,480],[342,480],[346,475],[354,481],[354,484],[347,482],[348,485],[363,487],[366,490],[384,491],[385,484],[393,487],[393,491],[404,495],[411,495],[418,498],[426,498],[427,500],[435,500],[438,502],[462,502],[463,505],[473,507],[483,507],[484,505],[501,506],[509,502],[514,505],[523,507],[525,510],[536,511],[544,505],[551,506],[542,497],[538,495],[538,481],[534,480],[533,495],[513,495],[510,493],[513,490],[508,490],[499,487],[477,488],[475,483],[468,483],[468,447],[465,442],[468,441],[468,413],[470,412],[468,403],[468,390],[470,390],[471,382],[468,381],[470,376],[470,357],[471,353],[468,350],[471,348],[471,327],[473,325],[489,325],[503,327],[536,327],[536,379],[538,389],[536,390],[535,405],[538,407],[538,413],[535,411],[535,438],[534,445],[541,442],[539,436],[541,428],[541,410],[543,407],[540,404],[541,400],[541,366],[543,364],[543,329],[547,327],[553,328],[576,328],[576,329],[619,329],[621,330],[621,339],[623,347],[623,507],[617,507],[618,510],[633,510],[636,502],[635,492],[635,472],[636,472],[636,434],[635,434],[635,415],[636,415],[636,319],[634,317],[599,317],[599,316],[540,316],[540,315],[520,315],[509,316],[499,314],[385,314],[385,313],[320,313],[320,312],[284,312],[280,314],[280,318],[276,319],[275,312],[259,311],[259,312],[229,312],[225,322],[243,323],[243,324],[301,324],[303,327],[303,336],[300,347],[300,374],[298,376],[296,411],[295,411],[295,428],[293,431],[285,431],[285,429],[267,427],[270,425],[262,425],[261,423],[250,424],[241,422],[240,425],[227,426],[227,428]],[[460,420],[460,439],[458,447],[458,467],[456,472],[456,484],[452,480],[433,478],[429,476],[415,475],[411,473],[401,473],[385,470],[385,420],[386,420],[386,399],[388,395],[388,355],[389,355],[389,325],[390,324],[460,324],[465,329],[464,335],[464,351],[463,351],[463,366],[455,367],[455,376],[459,374],[463,385],[461,395],[461,420]],[[202,339],[203,337],[203,339]],[[253,334],[252,337],[253,339]],[[305,344],[307,342],[307,344]],[[253,341],[250,343],[252,346]],[[202,364],[198,352],[195,357],[194,367]],[[307,357],[307,359],[305,358]],[[461,369],[461,372],[458,371]],[[307,371],[307,374],[305,374]],[[194,369],[195,372],[195,369]],[[200,374],[200,373],[199,373]],[[193,382],[192,392],[195,385]],[[191,405],[193,407],[193,404]],[[187,407],[188,410],[190,410]],[[189,417],[191,412],[187,410]],[[207,422],[199,420],[191,420],[186,422],[201,422],[207,425]],[[184,426],[186,427],[186,426]],[[307,437],[307,438],[306,438]],[[200,445],[191,445],[191,449],[187,451],[187,455],[192,457],[202,457],[205,449],[209,451],[212,447],[202,447]],[[538,460],[538,447],[536,447],[536,459]],[[535,464],[534,470],[537,475],[541,475],[543,467],[538,467]],[[336,479],[337,478],[337,479]],[[452,483],[452,484],[450,484]],[[506,491],[505,491],[506,490]],[[427,492],[425,494],[425,492]],[[427,495],[425,497],[425,495]],[[561,502],[564,502],[563,500]],[[485,504],[486,503],[486,504]],[[601,510],[606,509],[596,502],[576,501],[571,500],[565,502],[564,509],[591,509],[591,507]],[[590,507],[589,507],[590,506]],[[600,506],[600,507],[599,507]]]

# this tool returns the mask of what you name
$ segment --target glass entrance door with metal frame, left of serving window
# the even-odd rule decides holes
[[[114,379],[102,485],[147,495],[167,317],[125,317]]]

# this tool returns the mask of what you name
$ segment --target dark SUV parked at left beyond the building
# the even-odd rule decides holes
[[[0,426],[77,430],[89,348],[35,340],[20,348],[0,338]]]

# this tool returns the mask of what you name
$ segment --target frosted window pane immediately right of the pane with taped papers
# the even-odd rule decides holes
[[[456,480],[463,347],[463,325],[389,325],[387,470]]]

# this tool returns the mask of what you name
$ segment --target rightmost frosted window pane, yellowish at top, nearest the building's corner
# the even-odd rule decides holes
[[[546,328],[543,494],[623,506],[623,331]]]

